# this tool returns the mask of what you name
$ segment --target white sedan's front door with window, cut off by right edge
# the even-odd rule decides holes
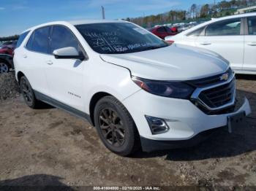
[[[256,17],[248,17],[246,21],[243,70],[256,72]]]

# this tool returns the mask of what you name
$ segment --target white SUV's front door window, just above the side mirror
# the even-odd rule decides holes
[[[72,34],[72,32],[64,26],[53,26],[53,32],[51,35],[50,52],[64,47],[75,47],[79,52],[78,40]]]

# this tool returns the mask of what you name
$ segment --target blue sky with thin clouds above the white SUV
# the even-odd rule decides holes
[[[0,36],[20,34],[54,20],[100,19],[100,6],[105,7],[107,19],[119,19],[187,10],[193,3],[212,4],[214,0],[0,0]]]

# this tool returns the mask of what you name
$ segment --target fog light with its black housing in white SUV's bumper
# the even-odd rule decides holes
[[[157,117],[145,116],[148,121],[148,125],[151,129],[153,135],[166,133],[170,128],[166,124],[165,120],[159,119]]]

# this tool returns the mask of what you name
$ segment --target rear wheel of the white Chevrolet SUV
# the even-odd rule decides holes
[[[34,90],[32,89],[29,80],[23,76],[20,78],[20,91],[23,95],[23,98],[26,104],[32,109],[38,109],[41,105],[41,102],[37,100],[34,95]]]

